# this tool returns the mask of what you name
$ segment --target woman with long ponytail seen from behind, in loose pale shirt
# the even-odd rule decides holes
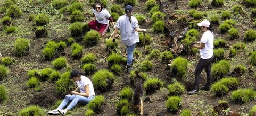
[[[133,69],[131,63],[133,61],[133,51],[136,43],[139,42],[138,32],[146,32],[146,29],[139,28],[138,20],[131,15],[132,11],[133,6],[126,5],[126,14],[118,18],[117,24],[115,24],[116,28],[113,32],[113,41],[115,41],[115,35],[120,30],[122,43],[127,47],[127,72]]]

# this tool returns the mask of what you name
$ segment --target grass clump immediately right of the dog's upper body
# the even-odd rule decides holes
[[[158,78],[151,78],[143,84],[143,87],[147,94],[151,94],[163,87],[163,82]]]

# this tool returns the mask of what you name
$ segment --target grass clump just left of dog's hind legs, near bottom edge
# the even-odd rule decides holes
[[[126,115],[129,112],[128,106],[130,103],[128,102],[127,99],[121,99],[115,107],[117,108],[117,113],[120,115]]]

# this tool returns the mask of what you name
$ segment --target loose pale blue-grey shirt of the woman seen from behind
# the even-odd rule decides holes
[[[135,28],[139,28],[138,20],[136,17],[131,16],[131,22],[129,17],[125,14],[118,18],[115,27],[120,29],[122,43],[126,46],[131,46],[139,42],[139,34]]]

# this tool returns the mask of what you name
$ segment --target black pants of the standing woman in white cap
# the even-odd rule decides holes
[[[200,58],[199,62],[197,63],[197,66],[195,68],[195,90],[199,90],[199,84],[201,82],[201,72],[203,69],[205,69],[205,72],[207,74],[207,83],[205,86],[211,85],[212,80],[212,73],[211,73],[211,63],[212,63],[213,56],[209,59],[202,59]]]

